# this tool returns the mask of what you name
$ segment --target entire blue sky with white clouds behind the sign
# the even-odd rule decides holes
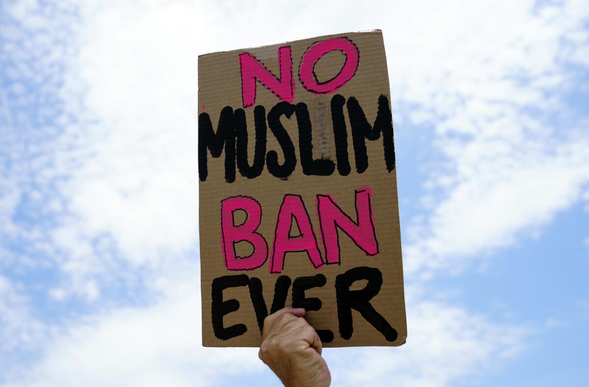
[[[197,57],[382,29],[408,340],[336,386],[583,386],[589,3],[0,2],[0,386],[277,386],[201,346]]]

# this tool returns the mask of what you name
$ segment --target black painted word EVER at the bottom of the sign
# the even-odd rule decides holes
[[[360,290],[350,290],[352,283],[358,280],[367,280],[366,286]],[[306,310],[321,309],[322,302],[316,297],[306,297],[305,291],[313,287],[322,287],[327,280],[323,274],[310,277],[297,277],[292,282],[292,306],[302,307]],[[274,300],[270,313],[274,313],[284,307],[286,296],[291,284],[289,276],[279,276],[274,287]],[[218,277],[212,283],[212,322],[215,336],[221,340],[229,340],[247,332],[244,324],[236,324],[229,327],[223,325],[223,317],[231,312],[239,310],[239,301],[236,299],[223,300],[223,290],[229,287],[248,286],[250,298],[256,312],[256,320],[262,332],[264,319],[268,316],[268,309],[262,293],[262,281],[257,277],[248,277],[246,274]],[[345,339],[352,338],[353,322],[352,309],[360,312],[360,315],[374,326],[389,342],[396,340],[397,331],[378,313],[370,300],[378,294],[382,287],[382,273],[373,267],[355,267],[345,273],[336,276],[335,292],[337,302],[337,320],[339,322],[339,334]],[[318,329],[317,335],[324,343],[332,342],[333,332],[328,329]]]

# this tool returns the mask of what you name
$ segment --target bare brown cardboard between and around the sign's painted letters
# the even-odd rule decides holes
[[[316,42],[326,41],[335,37],[345,37],[358,48],[358,68],[353,77],[339,90],[327,94],[315,94],[307,91],[298,76],[299,65],[303,55]],[[263,105],[266,115],[280,102],[262,83],[256,81],[256,99],[253,107],[244,108],[242,100],[241,68],[239,55],[245,52],[252,54],[258,61],[272,72],[280,76],[279,47],[290,46],[292,57],[292,72],[294,85],[294,99],[292,104],[304,102],[309,111],[312,124],[312,154],[315,159],[332,160],[337,164],[335,134],[332,124],[331,101],[335,95],[342,95],[346,101],[355,97],[365,113],[366,120],[373,125],[377,117],[379,97],[389,95],[388,72],[386,68],[385,48],[382,32],[353,32],[349,34],[330,35],[303,39],[284,44],[270,45],[258,48],[246,48],[228,52],[216,52],[201,55],[198,58],[198,113],[208,114],[217,130],[220,113],[224,107],[231,107],[234,111],[243,109],[247,121],[248,134],[248,162],[252,166],[255,150],[254,108]],[[318,81],[326,82],[335,77],[342,69],[346,55],[342,51],[331,51],[323,55],[316,62],[313,70]],[[390,102],[389,102],[390,109]],[[228,183],[225,178],[225,157],[227,144],[223,154],[215,158],[207,149],[208,175],[205,181],[200,181],[199,209],[200,209],[200,260],[201,260],[201,292],[203,318],[204,346],[259,346],[260,330],[256,320],[256,312],[250,298],[249,286],[227,287],[222,292],[223,302],[237,300],[239,309],[222,316],[224,328],[243,324],[246,332],[241,335],[221,340],[217,338],[213,329],[213,280],[224,276],[247,276],[246,283],[251,283],[253,277],[258,278],[263,287],[263,297],[266,308],[270,310],[274,298],[274,286],[279,276],[286,275],[292,282],[297,277],[316,276],[323,274],[326,283],[321,287],[312,287],[305,291],[306,297],[317,297],[321,300],[319,310],[307,312],[306,318],[317,330],[329,329],[333,333],[331,342],[324,342],[326,347],[341,346],[399,346],[405,343],[407,329],[405,317],[405,299],[403,293],[403,269],[401,257],[401,233],[399,226],[398,194],[396,184],[396,169],[388,171],[383,156],[383,134],[378,140],[365,140],[368,153],[368,168],[362,173],[356,171],[356,160],[353,149],[351,124],[348,106],[343,106],[346,130],[348,133],[348,155],[351,171],[342,176],[336,168],[330,176],[309,176],[303,173],[299,148],[299,128],[297,117],[280,119],[294,145],[296,167],[290,176],[278,178],[273,176],[266,163],[260,176],[247,178],[241,175],[236,167],[234,182]],[[199,131],[203,125],[199,125]],[[267,128],[266,152],[275,150],[278,161],[284,161],[282,148]],[[341,229],[339,234],[340,264],[325,264],[316,269],[310,262],[306,252],[288,252],[284,258],[281,273],[269,273],[270,256],[273,252],[274,233],[277,226],[277,215],[285,194],[302,197],[322,260],[326,260],[325,243],[321,237],[319,219],[317,216],[317,195],[329,194],[342,211],[356,221],[355,191],[369,187],[372,191],[371,211],[378,240],[378,254],[368,256]],[[260,226],[256,232],[261,234],[268,245],[268,259],[257,269],[228,270],[224,260],[223,243],[221,239],[221,201],[230,198],[246,196],[252,197],[262,207]],[[234,213],[233,224],[239,226],[246,220],[244,211]],[[300,231],[294,222],[290,236],[297,236]],[[235,244],[237,256],[246,257],[252,253],[252,245],[247,242]],[[369,323],[358,310],[352,309],[353,333],[349,339],[340,335],[338,319],[338,300],[336,299],[336,277],[355,267],[376,268],[382,273],[382,286],[379,292],[369,300],[370,305],[396,331],[396,338],[389,341]],[[243,279],[243,277],[240,277]],[[244,283],[244,284],[246,284]],[[361,290],[367,280],[358,280],[350,286],[350,290]],[[348,293],[342,293],[345,295]],[[218,301],[218,300],[217,300]],[[345,300],[340,299],[340,302]],[[286,306],[292,304],[292,285],[289,287]],[[218,305],[217,305],[218,306]],[[389,339],[391,337],[389,336]]]

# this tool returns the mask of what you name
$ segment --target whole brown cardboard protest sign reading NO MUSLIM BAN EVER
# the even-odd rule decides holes
[[[304,307],[327,347],[407,328],[382,32],[198,58],[203,345]]]

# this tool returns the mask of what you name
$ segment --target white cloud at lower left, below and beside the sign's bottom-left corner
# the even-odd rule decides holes
[[[256,349],[201,346],[199,287],[192,281],[168,284],[167,295],[151,306],[105,312],[70,326],[37,365],[7,385],[212,386],[266,371]]]

